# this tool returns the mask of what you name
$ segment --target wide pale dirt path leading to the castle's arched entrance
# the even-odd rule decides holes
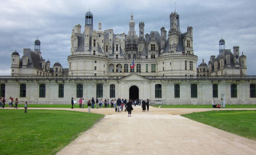
[[[150,112],[141,112],[141,108],[138,107],[132,111],[132,117],[127,117],[127,112],[116,113],[110,108],[92,109],[91,112],[107,115],[57,155],[254,155],[256,153],[256,141],[179,115],[208,110],[213,109],[150,107]]]

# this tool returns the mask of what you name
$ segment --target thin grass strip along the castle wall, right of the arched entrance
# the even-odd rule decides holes
[[[162,106],[162,108],[213,108],[212,105],[151,105],[153,107]],[[226,105],[225,108],[256,108],[256,104]]]

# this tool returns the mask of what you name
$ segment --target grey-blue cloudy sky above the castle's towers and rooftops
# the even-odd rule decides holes
[[[0,75],[10,75],[11,54],[23,55],[23,48],[34,49],[37,36],[42,57],[68,67],[70,36],[73,26],[85,25],[85,13],[93,13],[94,29],[128,34],[131,11],[138,34],[138,22],[144,21],[145,34],[170,28],[169,15],[180,15],[180,29],[193,27],[194,54],[197,65],[208,64],[218,55],[221,35],[226,49],[240,47],[247,56],[247,74],[256,75],[256,1],[255,0],[1,0],[0,1]],[[82,30],[83,31],[83,30]],[[232,50],[233,51],[233,50]]]

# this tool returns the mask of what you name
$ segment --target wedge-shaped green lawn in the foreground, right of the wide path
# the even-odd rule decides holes
[[[218,129],[256,140],[256,110],[213,110],[182,116]]]

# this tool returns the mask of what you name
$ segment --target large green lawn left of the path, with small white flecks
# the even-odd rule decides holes
[[[66,110],[0,110],[0,154],[54,155],[103,117]]]

